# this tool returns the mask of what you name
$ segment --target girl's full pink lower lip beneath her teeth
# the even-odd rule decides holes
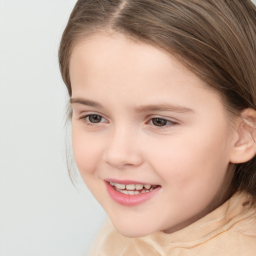
[[[149,191],[146,193],[123,194],[121,192],[116,191],[114,187],[109,184],[109,182],[105,181],[105,184],[106,184],[106,190],[109,196],[117,203],[125,206],[133,206],[133,205],[143,203],[149,200],[150,198],[152,198],[160,189],[160,186],[158,186],[154,188],[152,191]]]

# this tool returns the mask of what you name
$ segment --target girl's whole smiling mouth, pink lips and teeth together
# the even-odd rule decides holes
[[[132,181],[105,180],[109,196],[117,203],[125,206],[135,206],[154,197],[160,190],[160,185],[142,184]]]

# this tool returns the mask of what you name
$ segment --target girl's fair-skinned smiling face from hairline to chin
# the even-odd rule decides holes
[[[173,232],[227,199],[236,133],[173,55],[98,33],[74,47],[70,79],[75,162],[120,233]]]

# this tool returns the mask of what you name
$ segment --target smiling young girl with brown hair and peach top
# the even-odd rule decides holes
[[[78,0],[59,63],[89,255],[256,255],[252,2]]]

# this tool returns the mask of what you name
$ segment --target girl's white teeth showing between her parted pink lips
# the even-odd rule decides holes
[[[158,185],[150,185],[150,184],[119,184],[109,181],[109,184],[113,186],[113,188],[123,194],[141,194],[148,193],[158,187]]]

